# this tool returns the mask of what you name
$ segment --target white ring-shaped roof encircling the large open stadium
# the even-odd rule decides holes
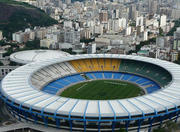
[[[172,74],[172,82],[152,94],[120,100],[80,100],[51,95],[34,88],[32,74],[45,66],[81,58],[133,59],[156,64]],[[171,62],[140,56],[91,54],[33,62],[9,73],[2,81],[2,93],[18,104],[50,113],[72,116],[133,116],[167,111],[180,105],[180,66]]]

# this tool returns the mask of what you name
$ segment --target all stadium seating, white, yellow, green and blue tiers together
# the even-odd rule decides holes
[[[86,77],[78,73],[84,73]],[[152,93],[160,88],[159,85],[167,85],[171,80],[171,75],[161,67],[141,61],[93,58],[48,66],[33,74],[31,81],[37,88],[55,94],[63,87],[86,79],[129,81],[145,88],[148,93]],[[52,80],[56,81],[52,82]],[[151,80],[156,80],[158,84]],[[47,82],[52,83],[46,86]]]

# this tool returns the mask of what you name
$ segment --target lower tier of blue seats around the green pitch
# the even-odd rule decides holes
[[[129,73],[119,73],[119,72],[89,72],[85,73],[85,76],[87,76],[89,79],[96,80],[96,79],[117,79],[122,81],[128,81],[132,83],[136,83],[137,85],[141,86],[142,88],[146,89],[147,93],[152,93],[156,90],[159,90],[160,87],[155,82],[140,77],[138,75],[133,75]],[[79,83],[82,81],[86,81],[86,79],[80,75],[70,75],[62,77],[52,83],[49,83],[47,86],[45,86],[42,91],[50,93],[50,94],[56,94],[61,88],[67,87],[69,85]]]

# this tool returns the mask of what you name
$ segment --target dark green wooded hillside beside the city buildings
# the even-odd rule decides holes
[[[50,26],[58,22],[44,11],[22,2],[0,0],[0,30],[11,39],[12,33],[34,26]]]

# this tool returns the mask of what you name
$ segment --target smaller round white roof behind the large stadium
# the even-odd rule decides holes
[[[11,54],[10,60],[21,64],[27,64],[35,61],[62,58],[68,55],[70,54],[60,50],[26,50]]]

